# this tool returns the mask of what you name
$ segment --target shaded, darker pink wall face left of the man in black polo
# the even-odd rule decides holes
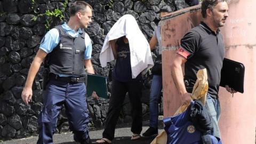
[[[171,62],[179,47],[180,39],[191,28],[199,25],[201,21],[200,7],[197,5],[173,12],[161,21],[164,117],[172,116],[181,105],[180,95],[171,77]]]

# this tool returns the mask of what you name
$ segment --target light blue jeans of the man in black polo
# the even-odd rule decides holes
[[[209,111],[209,114],[211,115],[211,117],[213,119],[212,135],[214,137],[220,138],[220,129],[218,126],[218,121],[220,118],[220,101],[219,101],[219,99],[213,98],[213,97],[211,97],[211,95],[209,93],[207,93],[205,108]]]

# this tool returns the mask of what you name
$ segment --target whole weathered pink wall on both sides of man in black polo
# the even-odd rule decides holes
[[[226,44],[226,58],[245,65],[244,93],[234,97],[222,87],[221,129],[223,143],[255,143],[256,127],[256,1],[233,0],[229,18],[221,33]],[[171,13],[162,20],[164,116],[172,116],[180,99],[172,81],[170,65],[180,38],[201,20],[200,5]]]

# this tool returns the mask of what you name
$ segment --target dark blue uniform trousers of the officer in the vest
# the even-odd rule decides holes
[[[63,105],[66,108],[69,128],[74,133],[74,140],[82,142],[89,137],[89,115],[85,94],[84,83],[50,81],[47,84],[43,109],[38,117],[38,144],[53,143],[52,136]]]

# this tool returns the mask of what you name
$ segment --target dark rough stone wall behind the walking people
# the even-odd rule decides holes
[[[41,90],[43,66],[33,85],[33,101],[26,105],[21,100],[30,63],[39,43],[50,28],[67,21],[68,5],[74,0],[1,0],[0,1],[0,140],[24,138],[37,135],[37,118],[42,109],[43,93]],[[187,7],[183,0],[91,0],[85,1],[93,6],[93,22],[86,29],[93,41],[92,63],[95,73],[109,77],[115,62],[101,68],[99,53],[106,34],[111,26],[124,14],[132,14],[149,40],[159,21],[159,7],[168,4],[173,11]],[[54,17],[60,10],[61,16]],[[47,13],[48,12],[48,13]],[[48,16],[47,16],[48,15]],[[152,53],[155,58],[155,53]],[[149,118],[150,71],[143,78],[143,120]],[[109,91],[110,92],[110,91]],[[101,128],[105,122],[108,100],[98,101],[87,97],[90,112],[90,127]],[[160,102],[162,103],[162,102]],[[129,99],[125,99],[118,124],[131,122]],[[161,108],[161,114],[163,110]],[[58,117],[57,132],[68,131],[65,108]]]

